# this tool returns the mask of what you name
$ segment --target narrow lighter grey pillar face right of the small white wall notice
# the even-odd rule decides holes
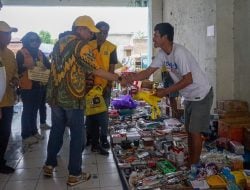
[[[234,99],[233,1],[217,1],[217,98]]]

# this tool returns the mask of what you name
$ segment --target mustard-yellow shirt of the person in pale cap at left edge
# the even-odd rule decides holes
[[[10,82],[13,78],[18,78],[15,55],[8,48],[0,49],[0,60],[6,71],[6,91],[0,102],[0,107],[13,106],[15,104],[16,93]]]

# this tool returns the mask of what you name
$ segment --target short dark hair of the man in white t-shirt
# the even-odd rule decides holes
[[[155,26],[154,31],[159,31],[161,36],[167,35],[168,40],[173,42],[174,40],[174,27],[165,22],[165,23],[159,23]]]

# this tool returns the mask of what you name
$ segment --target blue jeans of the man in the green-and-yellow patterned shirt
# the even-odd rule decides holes
[[[47,147],[46,165],[57,166],[57,154],[63,145],[66,124],[70,128],[70,154],[68,170],[70,175],[80,175],[82,170],[82,145],[85,141],[84,113],[81,109],[51,108],[52,128]]]

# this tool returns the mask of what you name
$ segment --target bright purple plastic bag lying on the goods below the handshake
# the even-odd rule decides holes
[[[137,107],[137,102],[130,95],[122,95],[119,98],[115,98],[111,104],[115,109],[134,109]]]

